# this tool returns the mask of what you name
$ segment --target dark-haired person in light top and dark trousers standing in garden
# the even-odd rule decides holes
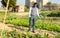
[[[33,6],[30,7],[29,11],[29,29],[28,29],[28,31],[30,31],[32,28],[33,33],[35,32],[34,29],[35,29],[36,15],[38,15],[39,17],[38,4],[34,3]]]

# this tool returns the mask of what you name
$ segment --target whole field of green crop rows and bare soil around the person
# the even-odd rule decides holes
[[[47,11],[41,14],[41,18],[37,17],[36,19],[36,33],[32,33],[27,32],[29,26],[28,13],[8,12],[5,24],[12,31],[0,30],[0,36],[2,38],[60,38],[60,17],[47,17],[47,14],[49,14]],[[1,23],[3,18],[4,12],[1,12]]]

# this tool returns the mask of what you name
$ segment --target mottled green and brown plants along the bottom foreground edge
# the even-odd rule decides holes
[[[17,30],[8,32],[7,30],[0,30],[0,36],[2,38],[48,38],[48,35],[44,33],[43,35],[36,33],[32,34],[30,32],[24,31],[21,33]],[[53,38],[60,38],[60,34],[54,35]]]

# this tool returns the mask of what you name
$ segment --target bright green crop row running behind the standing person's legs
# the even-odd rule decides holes
[[[14,24],[14,25],[18,25],[18,26],[24,26],[24,27],[29,26],[28,19],[6,20],[6,23],[7,24]],[[60,25],[59,24],[52,24],[52,23],[37,21],[36,28],[60,32]]]

